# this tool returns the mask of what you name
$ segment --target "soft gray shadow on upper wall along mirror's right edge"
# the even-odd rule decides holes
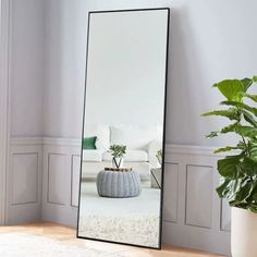
[[[198,73],[199,84],[204,82],[189,27],[186,9],[171,9],[167,140],[172,144],[194,144],[195,137],[199,134],[197,122],[192,122],[192,113],[195,114],[197,105],[195,88],[192,86],[192,73]],[[185,44],[185,35],[191,41],[189,48]],[[194,70],[188,59],[194,60]]]

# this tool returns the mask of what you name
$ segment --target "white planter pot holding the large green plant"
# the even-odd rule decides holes
[[[231,252],[233,257],[257,257],[257,215],[232,207]]]

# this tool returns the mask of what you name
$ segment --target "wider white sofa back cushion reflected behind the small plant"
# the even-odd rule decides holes
[[[131,150],[146,150],[149,143],[159,137],[158,132],[158,126],[111,126],[111,145],[126,145]]]

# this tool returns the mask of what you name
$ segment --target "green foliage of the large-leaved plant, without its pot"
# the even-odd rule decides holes
[[[257,95],[247,90],[257,83],[257,76],[244,79],[225,79],[213,85],[225,97],[220,105],[223,110],[215,110],[204,117],[218,115],[231,121],[220,131],[211,132],[207,138],[221,134],[235,133],[240,137],[237,145],[225,146],[215,152],[234,150],[234,154],[218,160],[218,172],[221,175],[217,188],[219,197],[227,198],[230,206],[249,209],[257,213],[257,108],[245,102],[257,102]]]

